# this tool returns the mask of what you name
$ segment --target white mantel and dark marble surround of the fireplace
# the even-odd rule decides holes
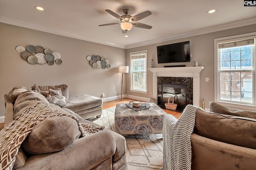
[[[161,82],[161,84],[164,83],[164,84],[186,85],[187,86],[187,89],[186,89],[187,104],[200,106],[200,72],[202,69],[204,69],[203,66],[148,68],[148,70],[150,70],[153,73],[153,97],[155,99],[158,99],[158,95],[159,95],[158,80],[162,79],[162,77],[165,77],[166,78],[165,82]],[[176,79],[174,83],[168,82],[169,80],[171,81],[172,79]],[[178,80],[180,81],[179,83],[178,83]],[[161,87],[161,90],[162,90],[162,87]],[[178,92],[177,89],[176,91]],[[175,90],[172,92],[175,93]],[[161,95],[162,95],[162,92],[161,92]]]

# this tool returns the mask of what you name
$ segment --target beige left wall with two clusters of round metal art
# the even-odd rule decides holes
[[[29,64],[16,52],[17,45],[41,45],[58,51],[62,64]],[[87,55],[109,59],[111,68],[92,68]],[[116,90],[120,95],[120,65],[125,65],[125,49],[0,23],[0,117],[5,111],[4,94],[15,86],[30,89],[34,84],[67,84],[70,96],[90,94],[100,98],[104,93],[108,98],[117,96]]]

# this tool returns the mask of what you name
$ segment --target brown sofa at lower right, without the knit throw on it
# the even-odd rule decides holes
[[[256,169],[256,112],[212,103],[196,111],[192,170]]]

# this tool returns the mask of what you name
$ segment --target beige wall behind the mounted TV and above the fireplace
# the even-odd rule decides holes
[[[200,72],[200,98],[205,99],[205,107],[210,108],[209,102],[214,101],[214,39],[220,37],[227,37],[232,35],[238,35],[243,33],[250,33],[256,31],[256,24],[248,25],[244,27],[238,27],[234,29],[228,29],[224,31],[218,31],[214,33],[208,33],[193,37],[187,37],[183,39],[176,39],[173,41],[166,41],[163,43],[157,43],[153,45],[146,45],[143,47],[136,47],[126,50],[126,63],[130,65],[130,52],[148,50],[148,67],[150,67],[150,57],[154,57],[154,67],[164,67],[164,65],[182,65],[193,66],[193,61],[198,61],[198,66],[204,66],[204,70]],[[190,41],[190,53],[192,59],[190,63],[157,63],[157,51],[156,47],[159,45],[166,45],[172,43],[178,43],[183,41]],[[150,98],[150,92],[153,91],[152,86],[152,72],[148,71],[148,94],[140,94],[129,92],[130,95],[141,96],[143,98]],[[210,78],[209,82],[205,82],[205,78]],[[128,89],[130,87],[130,76],[128,77]],[[201,104],[201,102],[200,102]]]

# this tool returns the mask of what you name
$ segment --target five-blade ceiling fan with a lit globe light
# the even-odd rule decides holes
[[[122,15],[122,16],[119,16],[118,14],[114,13],[111,10],[105,10],[105,11],[108,12],[110,15],[119,19],[121,22],[120,23],[119,22],[107,23],[107,24],[103,24],[103,25],[99,25],[99,26],[120,24],[123,33],[127,33],[127,31],[132,29],[132,26],[139,27],[139,28],[145,28],[145,29],[151,29],[152,28],[152,26],[150,26],[150,25],[146,25],[144,23],[136,22],[138,20],[146,18],[147,16],[150,16],[152,14],[150,11],[145,11],[145,12],[142,12],[142,13],[137,14],[135,16],[128,15],[130,13],[129,9],[123,9],[124,15]]]

